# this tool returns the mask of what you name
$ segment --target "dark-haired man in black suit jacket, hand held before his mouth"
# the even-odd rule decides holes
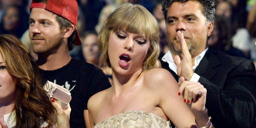
[[[182,76],[207,89],[205,106],[216,128],[255,128],[254,64],[207,46],[214,26],[214,0],[164,0],[162,6],[170,48],[160,59],[162,68],[177,82]],[[188,101],[196,102],[190,97]]]

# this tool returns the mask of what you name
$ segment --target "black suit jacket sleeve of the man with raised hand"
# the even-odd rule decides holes
[[[206,108],[216,128],[252,128],[255,126],[255,66],[243,61],[226,76],[223,86],[200,77],[207,89]],[[254,125],[254,126],[253,126]]]

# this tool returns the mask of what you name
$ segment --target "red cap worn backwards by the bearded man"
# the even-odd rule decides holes
[[[47,0],[46,3],[35,3],[33,1],[30,5],[30,11],[32,8],[42,8],[51,11],[75,24],[75,30],[77,31],[78,4],[76,0]],[[75,44],[81,45],[78,31]]]

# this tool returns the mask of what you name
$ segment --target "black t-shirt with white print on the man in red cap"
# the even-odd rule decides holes
[[[53,71],[40,69],[44,80],[63,86],[71,93],[71,128],[85,128],[84,110],[88,99],[111,85],[106,75],[93,64],[72,58],[62,68]]]

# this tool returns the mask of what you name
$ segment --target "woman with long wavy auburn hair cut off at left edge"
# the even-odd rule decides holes
[[[42,86],[38,66],[22,42],[0,35],[0,126],[69,127],[71,108],[62,110]]]

